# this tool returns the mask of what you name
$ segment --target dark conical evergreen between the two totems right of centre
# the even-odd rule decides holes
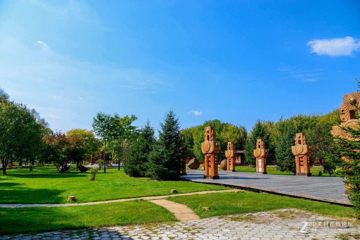
[[[276,148],[276,169],[282,172],[296,173],[295,156],[291,151],[294,146],[296,130],[290,125],[282,135],[278,147]]]

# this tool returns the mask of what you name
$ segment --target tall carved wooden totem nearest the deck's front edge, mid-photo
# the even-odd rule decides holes
[[[216,140],[214,127],[205,128],[205,142],[201,143],[201,151],[205,155],[206,179],[219,179],[217,172],[217,154],[220,152],[220,142]]]

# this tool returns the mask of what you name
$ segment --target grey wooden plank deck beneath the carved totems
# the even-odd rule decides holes
[[[240,189],[352,205],[343,195],[346,187],[340,177],[304,177],[219,171],[220,179],[210,180],[204,179],[204,172],[201,170],[186,170],[188,175],[181,178],[199,183],[223,184]]]

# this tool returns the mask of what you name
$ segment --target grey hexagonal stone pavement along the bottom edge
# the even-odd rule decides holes
[[[281,209],[165,224],[2,236],[0,240],[10,238],[12,240],[352,240],[360,238],[360,224],[352,222],[351,219],[337,220],[297,209]]]

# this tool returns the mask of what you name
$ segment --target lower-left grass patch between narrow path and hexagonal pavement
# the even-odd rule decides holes
[[[145,200],[69,207],[0,208],[0,236],[161,221],[176,221],[176,218],[167,209]]]

